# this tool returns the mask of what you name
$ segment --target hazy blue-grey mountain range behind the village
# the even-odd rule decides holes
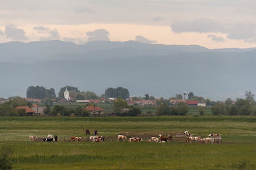
[[[25,97],[31,85],[53,87],[56,94],[65,85],[99,95],[121,86],[136,96],[171,97],[187,91],[210,99],[256,92],[256,48],[34,41],[2,43],[0,52],[0,97]]]

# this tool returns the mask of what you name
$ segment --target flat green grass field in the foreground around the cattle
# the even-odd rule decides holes
[[[86,128],[107,141],[86,141]],[[202,137],[220,132],[223,143],[116,142],[120,131],[186,130]],[[57,134],[58,143],[29,142],[29,135],[47,134]],[[0,137],[1,146],[13,148],[14,169],[256,169],[256,117],[1,117]]]

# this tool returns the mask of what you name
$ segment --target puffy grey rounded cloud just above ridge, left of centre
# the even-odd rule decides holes
[[[95,31],[86,32],[87,41],[109,41],[109,32],[106,29],[96,29]]]

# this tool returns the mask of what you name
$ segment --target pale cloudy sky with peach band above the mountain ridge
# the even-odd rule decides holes
[[[256,47],[255,0],[0,1],[0,43],[60,39]]]

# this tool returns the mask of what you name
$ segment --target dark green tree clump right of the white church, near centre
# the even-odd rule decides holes
[[[108,98],[117,97],[120,99],[127,99],[130,96],[129,90],[125,89],[124,87],[117,87],[116,89],[109,87],[105,90],[105,95]]]

